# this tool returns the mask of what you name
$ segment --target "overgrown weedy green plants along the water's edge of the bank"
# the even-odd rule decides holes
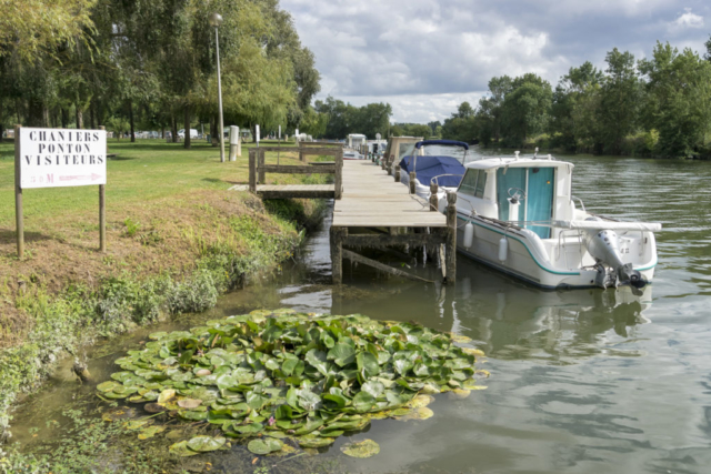
[[[11,407],[18,396],[37,390],[59,357],[76,357],[96,337],[214,306],[221,293],[292,256],[303,240],[301,222],[316,222],[324,209],[322,202],[290,201],[270,204],[278,212],[267,212],[253,196],[231,199],[238,201],[237,208],[201,204],[201,221],[184,222],[177,231],[179,239],[171,245],[178,245],[179,260],[192,259],[180,268],[174,262],[162,269],[153,265],[156,273],[147,275],[113,265],[98,283],[73,281],[60,291],[40,283],[47,278],[26,279],[24,291],[13,295],[13,310],[31,330],[19,343],[0,350],[3,440],[10,436]]]

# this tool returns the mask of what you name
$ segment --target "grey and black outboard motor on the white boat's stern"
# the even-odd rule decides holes
[[[587,221],[602,221],[600,218],[588,218]],[[583,234],[588,252],[595,259],[595,284],[602,289],[629,283],[634,288],[643,288],[647,281],[631,263],[622,263],[618,234],[609,229],[588,230]]]

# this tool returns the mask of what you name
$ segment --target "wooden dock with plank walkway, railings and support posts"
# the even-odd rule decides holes
[[[249,190],[262,199],[333,198],[333,222],[330,231],[333,283],[343,279],[343,259],[373,266],[385,273],[422,280],[356,253],[350,249],[418,249],[424,248],[440,258],[444,281],[452,283],[457,275],[457,194],[447,195],[447,213],[438,205],[423,202],[413,186],[391,175],[387,167],[371,160],[346,160],[343,150],[332,147],[281,148],[298,151],[303,165],[266,164],[264,152],[277,148],[251,149],[249,155]],[[307,163],[309,154],[331,155],[333,162]],[[391,168],[388,168],[389,170]],[[399,170],[398,170],[399,171]],[[266,173],[332,173],[333,184],[266,184]],[[414,177],[412,182],[414,182]],[[431,192],[437,196],[437,185]],[[437,199],[434,199],[437,201]]]

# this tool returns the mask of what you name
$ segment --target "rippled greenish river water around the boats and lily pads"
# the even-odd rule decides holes
[[[575,164],[573,193],[589,210],[662,222],[654,282],[641,296],[629,289],[543,292],[462,256],[453,286],[347,265],[344,286],[333,289],[327,222],[279,275],[160,329],[288,306],[414,320],[467,335],[487,353],[480,366],[491,377],[479,382],[488,390],[464,400],[439,395],[427,421],[373,422],[352,436],[380,444],[372,458],[346,457],[339,446],[347,440],[337,441],[320,455],[337,462],[333,471],[711,472],[711,163],[558,158]],[[156,330],[97,349],[90,370],[106,379],[112,360]],[[67,372],[16,414],[17,438],[28,440],[38,406],[58,410],[90,390],[77,389]],[[241,472],[219,456],[212,472]]]

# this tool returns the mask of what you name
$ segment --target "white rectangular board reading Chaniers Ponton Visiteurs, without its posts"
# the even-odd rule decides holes
[[[106,183],[106,131],[20,129],[20,188]]]

